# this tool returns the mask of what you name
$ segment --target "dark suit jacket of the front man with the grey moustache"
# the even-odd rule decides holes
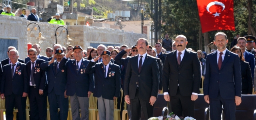
[[[124,95],[129,95],[130,99],[134,99],[137,86],[139,86],[139,97],[149,100],[150,96],[157,97],[158,95],[160,73],[157,59],[146,54],[139,73],[138,57],[138,55],[133,56],[128,61],[124,80]]]

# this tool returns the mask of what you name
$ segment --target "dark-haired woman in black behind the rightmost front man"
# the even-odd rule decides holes
[[[238,54],[240,58],[241,73],[242,73],[242,94],[252,94],[252,73],[248,62],[244,60],[244,54],[238,46],[234,46],[230,50]]]

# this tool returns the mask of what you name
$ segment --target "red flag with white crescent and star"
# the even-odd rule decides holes
[[[234,1],[233,0],[197,0],[202,32],[212,30],[233,30]]]

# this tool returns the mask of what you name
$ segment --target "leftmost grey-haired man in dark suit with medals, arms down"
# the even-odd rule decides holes
[[[28,96],[28,76],[26,64],[18,62],[17,50],[10,50],[11,63],[3,67],[1,98],[5,100],[6,120],[13,120],[13,108],[18,108],[19,120],[26,120],[26,98]],[[1,70],[2,71],[2,70]]]

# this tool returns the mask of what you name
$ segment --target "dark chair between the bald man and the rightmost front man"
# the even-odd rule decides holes
[[[209,120],[209,104],[204,101],[204,95],[198,94],[198,98],[195,101],[195,119],[196,120]]]

